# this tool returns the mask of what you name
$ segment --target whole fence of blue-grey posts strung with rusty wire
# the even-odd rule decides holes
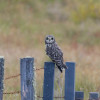
[[[13,92],[3,92],[4,59],[0,58],[0,100],[2,95],[20,94],[21,100],[35,100],[35,71],[44,69],[43,96],[37,95],[43,100],[53,100],[53,98],[64,98],[64,100],[84,100],[84,92],[75,92],[75,63],[67,62],[68,70],[65,70],[65,96],[54,96],[54,73],[55,67],[52,62],[45,62],[44,68],[35,69],[34,58],[23,58],[20,61],[20,74],[9,76],[5,80],[21,77],[21,90]],[[69,96],[68,96],[68,95]],[[100,100],[98,92],[90,92],[88,100]]]

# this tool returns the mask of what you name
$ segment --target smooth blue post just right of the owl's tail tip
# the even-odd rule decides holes
[[[66,62],[65,70],[65,100],[75,100],[75,63]]]

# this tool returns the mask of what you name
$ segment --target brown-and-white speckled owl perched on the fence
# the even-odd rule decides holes
[[[67,69],[67,66],[63,61],[63,53],[58,47],[54,36],[47,35],[45,38],[46,54],[51,58],[51,60],[56,64],[60,72],[62,73],[63,68]]]

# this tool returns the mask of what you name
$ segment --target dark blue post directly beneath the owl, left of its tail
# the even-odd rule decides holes
[[[43,100],[53,100],[54,96],[54,69],[53,62],[45,62]]]

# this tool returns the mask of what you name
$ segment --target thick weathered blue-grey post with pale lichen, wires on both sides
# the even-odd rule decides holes
[[[34,58],[20,60],[21,100],[35,100]]]

